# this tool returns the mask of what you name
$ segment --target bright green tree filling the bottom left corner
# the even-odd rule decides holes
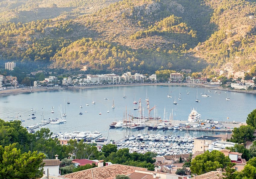
[[[40,178],[43,176],[43,153],[21,153],[16,143],[0,146],[0,176],[2,178]]]

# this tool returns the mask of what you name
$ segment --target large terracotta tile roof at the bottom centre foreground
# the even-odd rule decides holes
[[[147,170],[147,168],[133,167],[128,165],[113,164],[105,167],[95,167],[87,170],[77,171],[74,173],[63,175],[62,177],[68,179],[112,179],[117,174],[132,174],[135,170]]]

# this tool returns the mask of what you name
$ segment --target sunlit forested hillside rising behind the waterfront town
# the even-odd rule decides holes
[[[120,73],[249,69],[254,13],[242,0],[2,1],[0,58]]]

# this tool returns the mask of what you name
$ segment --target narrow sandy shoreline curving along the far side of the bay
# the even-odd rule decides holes
[[[214,90],[223,90],[226,91],[226,89],[221,88],[220,86],[213,86],[213,85],[204,85],[204,84],[188,84],[188,83],[139,83],[139,84],[125,84],[125,85],[90,85],[90,86],[69,86],[69,87],[41,87],[41,88],[32,88],[32,92],[34,91],[48,91],[48,90],[63,90],[63,89],[87,89],[87,88],[104,88],[104,87],[113,87],[113,86],[151,86],[151,85],[186,85],[186,86],[191,86],[191,85],[197,85],[197,86],[206,86],[206,88],[211,88]],[[253,91],[246,91],[246,90],[231,90],[229,89],[228,91],[234,91],[238,93],[251,93],[251,94],[256,94],[256,90]],[[6,89],[6,90],[1,90],[0,95],[8,95],[8,94],[16,94],[16,93],[27,93],[31,92],[30,88],[15,88],[15,89]]]

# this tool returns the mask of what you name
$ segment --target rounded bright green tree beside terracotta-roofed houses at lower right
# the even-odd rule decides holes
[[[222,152],[213,150],[211,153],[206,151],[205,153],[198,155],[191,162],[191,173],[198,175],[214,171],[217,168],[224,168],[230,162],[228,156],[225,156]]]

